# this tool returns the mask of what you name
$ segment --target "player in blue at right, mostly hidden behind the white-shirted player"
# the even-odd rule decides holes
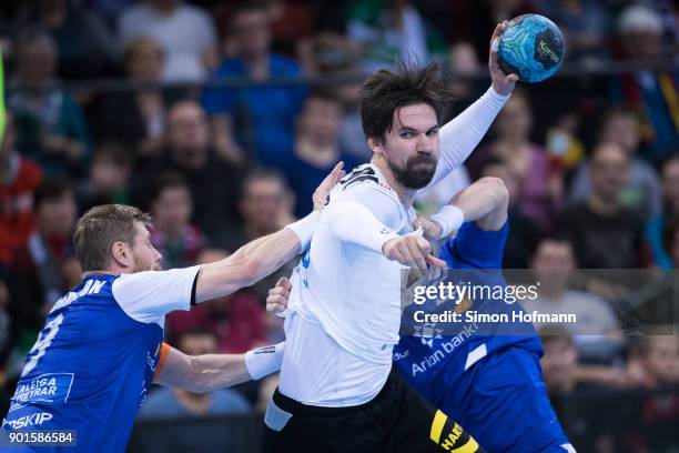
[[[467,202],[470,199],[475,202]],[[439,258],[466,278],[482,274],[487,284],[506,284],[499,271],[508,231],[504,182],[484,178],[453,202],[478,209],[466,211],[467,220],[475,221],[465,222],[456,236],[443,244]],[[438,223],[424,218],[418,222],[425,236],[439,236]],[[270,291],[267,310],[284,311],[290,289],[290,282],[281,279]],[[478,310],[523,310],[518,304],[497,302],[484,306]],[[503,326],[494,332],[476,325],[465,328],[469,334],[458,335],[455,341],[445,334],[402,335],[394,348],[394,363],[401,375],[488,452],[575,452],[547,397],[539,363],[544,350],[533,326],[505,326],[505,333]]]

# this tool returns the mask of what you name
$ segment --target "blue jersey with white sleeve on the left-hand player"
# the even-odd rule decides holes
[[[161,356],[164,315],[189,310],[197,270],[85,278],[50,311],[2,429],[75,430],[70,452],[124,451]]]

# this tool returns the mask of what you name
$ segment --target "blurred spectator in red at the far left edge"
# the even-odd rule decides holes
[[[40,168],[17,151],[16,139],[14,120],[7,112],[0,144],[0,275],[33,230],[33,192],[42,181]]]

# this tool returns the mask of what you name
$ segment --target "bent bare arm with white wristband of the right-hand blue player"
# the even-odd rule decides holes
[[[486,177],[462,190],[430,219],[418,218],[416,226],[424,229],[429,240],[448,236],[464,221],[475,221],[484,231],[498,231],[507,221],[509,192],[499,178]]]

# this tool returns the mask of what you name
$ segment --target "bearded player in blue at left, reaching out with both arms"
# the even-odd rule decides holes
[[[207,392],[277,371],[282,345],[236,355],[183,354],[163,343],[165,314],[251,285],[304,250],[343,174],[338,164],[321,183],[306,218],[224,260],[186,269],[160,271],[161,255],[149,240],[151,219],[136,208],[107,204],[88,211],[73,233],[82,283],[48,314],[1,434],[69,430],[77,446],[63,451],[123,452],[152,383]]]

